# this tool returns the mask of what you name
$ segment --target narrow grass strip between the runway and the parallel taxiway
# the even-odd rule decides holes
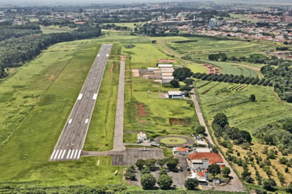
[[[107,62],[83,150],[113,149],[120,62]]]

